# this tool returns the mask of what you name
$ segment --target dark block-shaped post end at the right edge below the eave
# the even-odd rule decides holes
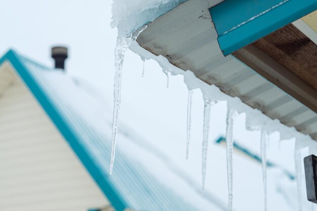
[[[305,180],[306,180],[306,192],[307,199],[313,203],[317,203],[316,185],[317,185],[317,157],[315,155],[309,155],[304,158],[305,167]]]

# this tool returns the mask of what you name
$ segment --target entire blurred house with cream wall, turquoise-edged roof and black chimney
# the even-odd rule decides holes
[[[0,60],[0,209],[196,210],[120,149],[108,174],[102,105],[65,75],[66,48],[52,57],[55,69],[12,50]]]

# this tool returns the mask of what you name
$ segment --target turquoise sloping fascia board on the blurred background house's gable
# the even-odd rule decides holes
[[[52,121],[61,132],[61,134],[64,136],[66,141],[69,143],[69,145],[72,147],[76,155],[85,165],[88,172],[91,174],[93,179],[96,181],[108,200],[111,202],[115,210],[123,211],[128,208],[127,203],[125,202],[123,197],[121,197],[120,193],[111,184],[109,180],[110,176],[104,175],[104,173],[99,169],[96,161],[93,159],[93,156],[90,156],[89,151],[80,144],[80,137],[77,137],[74,130],[60,114],[59,110],[55,107],[51,99],[46,95],[46,92],[41,88],[41,86],[39,86],[37,81],[33,78],[32,74],[30,74],[28,69],[23,65],[23,62],[20,61],[19,55],[13,50],[10,50],[0,59],[0,65],[5,61],[9,61],[15,68],[19,76],[25,82],[26,86],[29,88],[39,104],[52,119]]]

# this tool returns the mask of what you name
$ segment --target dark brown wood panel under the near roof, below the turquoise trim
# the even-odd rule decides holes
[[[317,46],[293,24],[253,44],[317,90]]]

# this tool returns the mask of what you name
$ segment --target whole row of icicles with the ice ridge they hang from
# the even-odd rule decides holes
[[[172,1],[171,1],[172,2]],[[175,5],[177,3],[183,2],[183,0],[174,1]],[[174,4],[173,3],[173,4]],[[119,7],[119,6],[118,6]],[[161,6],[160,6],[161,7]],[[172,6],[171,6],[172,8]],[[121,10],[118,10],[121,11]],[[168,11],[168,10],[166,10]],[[148,14],[154,14],[153,10],[142,11],[147,12]],[[161,12],[160,12],[161,13]],[[164,12],[162,12],[164,14]],[[161,15],[162,15],[161,14]],[[155,16],[158,17],[158,16]],[[155,18],[151,20],[154,20]],[[149,20],[148,18],[146,19]],[[123,25],[130,25],[130,19],[126,18]],[[139,23],[144,23],[140,21]],[[137,23],[136,25],[139,25]],[[118,22],[114,21],[113,25],[118,25]],[[135,28],[134,26],[132,28]],[[267,173],[266,173],[266,150],[267,150],[267,136],[273,131],[280,131],[281,140],[289,139],[291,137],[300,137],[301,142],[303,140],[311,139],[309,137],[302,137],[303,135],[299,135],[298,132],[294,129],[290,129],[287,126],[281,124],[278,120],[271,120],[268,117],[264,116],[259,110],[253,109],[246,104],[242,103],[240,99],[231,98],[223,94],[217,87],[210,86],[202,80],[195,77],[194,73],[191,71],[183,71],[178,69],[177,67],[172,66],[166,58],[163,56],[155,56],[147,52],[146,50],[140,48],[136,42],[133,41],[137,38],[138,34],[141,33],[146,28],[146,25],[140,30],[135,31],[129,36],[118,35],[117,44],[115,48],[115,77],[114,77],[114,109],[113,109],[113,128],[112,128],[112,148],[111,148],[111,161],[110,161],[110,174],[113,169],[113,161],[115,155],[115,143],[116,143],[116,135],[117,135],[117,123],[118,123],[118,115],[120,111],[120,103],[121,103],[121,83],[122,83],[122,66],[124,61],[125,52],[128,48],[132,51],[136,52],[141,56],[143,61],[143,71],[142,77],[144,76],[144,61],[146,59],[154,59],[163,68],[163,72],[167,76],[167,88],[169,87],[169,76],[171,74],[177,75],[182,74],[184,76],[184,82],[188,87],[188,104],[187,104],[187,142],[186,142],[186,159],[188,159],[189,154],[189,143],[190,143],[190,129],[191,129],[191,107],[192,107],[192,90],[200,89],[204,95],[205,106],[204,106],[204,126],[203,126],[203,143],[202,143],[202,191],[204,193],[205,189],[205,179],[206,179],[206,162],[207,162],[207,154],[208,154],[208,141],[209,141],[209,130],[210,130],[210,109],[213,102],[218,101],[228,101],[228,104],[234,105],[234,110],[232,110],[231,106],[228,106],[227,111],[227,127],[226,127],[226,152],[227,152],[227,180],[228,180],[228,210],[232,210],[232,183],[233,183],[233,170],[232,170],[232,152],[233,152],[233,119],[234,114],[236,113],[246,113],[247,123],[246,128],[250,131],[260,130],[261,126],[261,159],[262,159],[262,177],[263,177],[263,192],[264,192],[264,210],[267,210]],[[125,31],[130,31],[126,29]],[[122,34],[122,33],[119,33]],[[131,45],[133,44],[133,45]],[[131,46],[130,46],[131,45]],[[265,125],[265,128],[264,126]],[[299,139],[298,139],[299,140]],[[296,142],[297,143],[297,142]],[[280,145],[280,143],[279,143]],[[300,148],[296,147],[295,153],[295,170],[296,170],[296,183],[297,183],[297,192],[298,192],[298,209],[302,210],[302,201],[301,201],[301,159],[300,159]]]

